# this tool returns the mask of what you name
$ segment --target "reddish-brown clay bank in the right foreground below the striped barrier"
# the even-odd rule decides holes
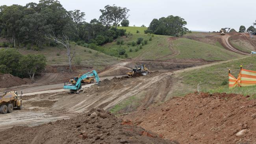
[[[256,142],[256,100],[239,94],[188,94],[124,118],[182,144]]]

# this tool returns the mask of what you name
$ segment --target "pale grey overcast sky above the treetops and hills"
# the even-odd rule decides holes
[[[180,16],[187,21],[189,30],[218,31],[221,28],[246,28],[256,20],[256,0],[59,0],[68,11],[85,12],[89,22],[99,18],[106,5],[130,9],[130,26],[148,26],[153,18]],[[0,0],[0,5],[38,3],[39,0]]]

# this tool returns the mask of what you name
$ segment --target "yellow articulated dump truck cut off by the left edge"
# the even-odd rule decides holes
[[[0,95],[0,113],[11,113],[13,108],[22,109],[21,95],[18,96],[15,91],[5,92],[4,95]]]

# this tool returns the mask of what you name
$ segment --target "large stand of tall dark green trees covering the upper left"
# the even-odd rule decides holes
[[[126,8],[122,10],[119,8],[117,7],[118,11],[128,11]],[[64,34],[71,41],[82,40],[98,45],[112,42],[113,39],[125,33],[125,30],[116,30],[109,25],[104,26],[96,19],[89,23],[85,22],[84,16],[85,13],[80,10],[67,11],[57,0],[40,0],[39,4],[31,2],[26,6],[4,5],[0,6],[0,36],[9,40],[12,44],[10,47],[30,44],[41,48],[43,45],[54,46],[54,42],[45,39],[48,33]],[[126,13],[118,16],[128,17]],[[102,16],[101,20],[104,21],[104,18],[109,17]]]

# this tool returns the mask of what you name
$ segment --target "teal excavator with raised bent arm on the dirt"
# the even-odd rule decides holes
[[[91,71],[91,72],[87,72],[86,74],[83,74],[82,76],[80,76],[76,83],[64,83],[63,89],[69,89],[70,93],[79,93],[80,89],[82,89],[82,80],[86,79],[88,77],[92,77],[94,76],[96,82],[100,82],[100,78],[98,77],[98,74],[95,70]]]

